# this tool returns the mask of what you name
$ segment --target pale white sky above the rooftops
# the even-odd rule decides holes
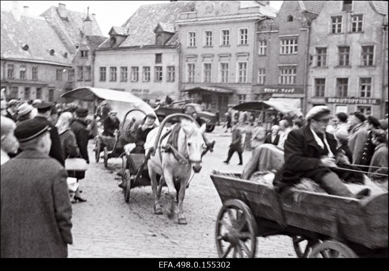
[[[23,10],[23,6],[29,6],[30,15],[39,16],[50,6],[58,6],[58,3],[66,4],[69,10],[95,13],[97,22],[103,35],[108,36],[108,32],[112,26],[122,26],[123,23],[131,17],[131,15],[141,6],[145,4],[166,3],[169,1],[154,0],[154,1],[18,1],[19,7]],[[270,1],[270,5],[276,9],[281,7],[283,1]],[[1,0],[1,8],[11,9],[11,0]]]

